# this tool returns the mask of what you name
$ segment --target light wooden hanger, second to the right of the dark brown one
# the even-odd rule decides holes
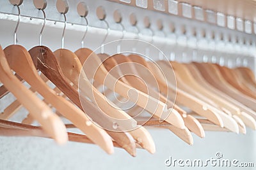
[[[160,121],[165,120],[166,122],[170,122],[171,124],[175,122],[175,124],[173,125],[175,125],[176,127],[185,127],[181,117],[177,120],[170,120],[168,118],[172,109],[168,110],[166,104],[148,96],[147,94],[144,94],[143,92],[140,92],[139,90],[130,87],[129,85],[126,85],[120,80],[116,80],[115,77],[113,77],[111,74],[108,74],[108,71],[102,65],[102,62],[99,59],[99,56],[93,53],[92,50],[88,48],[80,48],[75,53],[83,64],[85,73],[88,78],[93,78],[93,80],[99,81],[99,83],[102,84],[106,82],[106,87],[113,90],[114,92],[117,92],[125,98],[129,98],[132,102],[138,104],[138,106],[140,106],[141,108],[145,108],[148,113],[152,113],[159,117]]]

